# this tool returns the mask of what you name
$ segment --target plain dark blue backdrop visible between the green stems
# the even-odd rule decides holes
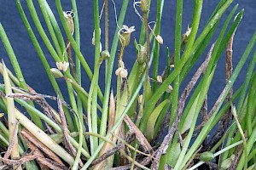
[[[44,54],[49,59],[49,65],[51,67],[55,67],[55,62],[51,58],[48,50],[45,48],[44,42],[42,41],[41,37],[38,36],[38,32],[35,29],[35,26],[32,24],[32,18],[30,17],[29,11],[26,8],[26,1],[20,0],[23,8],[26,10],[26,14],[28,16],[28,20],[32,25],[32,29],[37,34],[38,41],[40,42],[41,47],[44,50]],[[41,64],[40,59],[38,58],[38,54],[36,53],[35,49],[33,48],[32,42],[30,41],[30,37],[26,32],[26,28],[23,25],[22,20],[20,19],[20,14],[18,9],[15,5],[15,1],[8,1],[8,0],[0,0],[1,8],[0,8],[0,21],[3,24],[5,31],[9,37],[9,40],[15,50],[15,54],[17,59],[20,63],[21,70],[23,71],[24,77],[26,82],[32,86],[38,93],[41,94],[51,94],[55,95],[53,89],[51,88],[50,82],[46,73],[44,72],[44,67]],[[51,0],[48,1],[49,6],[55,13],[55,17],[59,20],[57,15],[57,11],[55,8],[55,1]],[[102,4],[103,1],[101,1]],[[115,1],[117,11],[119,14],[119,9],[121,8],[122,1]],[[139,38],[139,29],[142,25],[141,21],[139,20],[138,16],[135,14],[132,2],[130,2],[128,6],[128,11],[125,17],[124,24],[127,26],[135,26],[137,31],[133,32],[131,37],[136,37],[137,40]],[[187,26],[190,25],[190,20],[192,17],[193,12],[193,2],[192,0],[184,0],[183,1],[183,32],[186,31]],[[46,30],[46,26],[44,20],[42,18],[42,14],[38,7],[37,1],[34,1],[36,8],[38,8],[38,15],[42,19],[42,25]],[[94,50],[93,46],[91,45],[91,37],[93,32],[93,1],[86,1],[86,0],[78,0],[78,9],[79,9],[79,24],[80,24],[80,34],[81,34],[81,51],[84,54],[85,59],[90,64],[90,68],[93,68],[93,56]],[[249,42],[250,38],[253,36],[253,31],[256,28],[256,1],[254,0],[234,0],[231,4],[230,8],[225,12],[219,26],[217,33],[212,37],[212,42],[214,42],[218,37],[218,32],[220,27],[224,23],[224,19],[229,14],[230,10],[236,5],[236,3],[240,3],[238,7],[238,11],[241,8],[245,8],[245,13],[243,15],[243,19],[241,20],[241,24],[236,31],[235,42],[234,42],[234,49],[233,49],[233,58],[234,58],[234,66],[236,66],[237,62],[241,58],[241,54],[243,53],[244,49],[247,47],[247,43]],[[213,9],[217,6],[217,0],[205,0],[202,14],[201,14],[201,24],[199,33],[202,31],[202,28],[206,25],[208,17],[212,14]],[[71,10],[71,3],[70,1],[62,1],[63,9]],[[113,3],[109,1],[109,13],[111,18],[109,19],[110,25],[110,37],[113,35],[113,31],[115,30],[115,21],[113,18]],[[162,25],[161,25],[161,36],[164,38],[164,44],[160,46],[160,73],[163,71],[164,67],[166,66],[166,47],[169,47],[171,53],[173,52],[174,48],[174,30],[175,30],[175,13],[176,13],[176,1],[166,1],[164,6],[164,12],[162,16]],[[156,0],[152,0],[152,8],[150,8],[149,14],[149,21],[155,20],[156,14]],[[104,47],[104,16],[102,17],[102,46]],[[111,39],[110,39],[111,41]],[[210,48],[210,45],[207,47],[207,50]],[[136,54],[134,46],[131,44],[129,48],[125,50],[125,66],[127,67],[128,71],[131,71],[131,65],[134,63],[136,59]],[[195,72],[197,67],[201,64],[202,59],[204,59],[207,55],[206,53],[201,56],[201,60],[195,65],[193,71]],[[252,54],[251,54],[252,56]],[[9,69],[11,68],[9,58],[3,48],[3,42],[0,42],[0,58],[4,59],[6,65],[8,65]],[[247,71],[247,64],[245,68],[241,71],[240,77],[238,77],[236,81],[236,87],[241,85],[243,78]],[[116,67],[114,68],[116,69]],[[192,71],[192,72],[193,72]],[[104,70],[102,70],[102,78],[104,76]],[[115,77],[113,75],[113,77]],[[191,75],[189,76],[191,77]],[[185,82],[188,82],[189,77]],[[209,105],[211,106],[214,101],[218,98],[218,95],[224,88],[224,57],[222,57],[218,63],[218,68],[214,76],[214,80],[212,82],[212,86],[209,92]],[[100,85],[103,87],[104,81],[100,79]],[[2,81],[2,80],[1,80]],[[63,87],[65,87],[65,82],[59,80]],[[115,87],[115,81],[112,82],[113,87]],[[90,84],[88,78],[83,74],[83,86],[88,89]]]

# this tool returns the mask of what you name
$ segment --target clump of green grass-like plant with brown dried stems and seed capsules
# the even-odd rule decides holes
[[[32,0],[26,0],[26,4],[20,0],[15,2],[55,96],[39,94],[26,84],[15,49],[0,24],[0,37],[15,71],[15,74],[9,71],[2,60],[1,169],[256,168],[256,52],[253,52],[256,32],[233,69],[233,37],[244,13],[243,9],[237,12],[238,4],[220,0],[199,32],[203,1],[195,0],[191,23],[188,30],[182,32],[182,26],[188,23],[182,21],[183,0],[177,0],[174,51],[166,48],[166,69],[161,74],[159,57],[165,37],[161,37],[160,26],[164,0],[157,0],[156,7],[150,5],[150,0],[133,2],[131,8],[141,20],[141,28],[124,23],[129,0],[122,1],[119,16],[114,18],[108,16],[108,3],[114,2],[105,0],[104,29],[100,28],[99,2],[91,1],[93,68],[80,50],[76,0],[71,0],[72,9],[67,12],[63,11],[61,0],[55,0],[56,15],[46,0],[38,0],[41,11],[34,8]],[[23,5],[27,5],[29,11],[24,11]],[[218,26],[230,6],[233,9],[223,26]],[[156,8],[155,22],[148,22],[150,8]],[[28,12],[32,20],[27,20]],[[44,16],[44,23],[38,19],[39,12]],[[115,8],[114,13],[117,14]],[[56,18],[60,19],[59,23]],[[108,20],[116,22],[113,37],[109,37]],[[32,31],[31,25],[36,26],[37,32]],[[47,27],[44,29],[43,25]],[[212,37],[218,27],[221,28],[218,36]],[[139,31],[140,38],[132,43],[133,31]],[[38,42],[35,34],[42,37],[44,44]],[[49,65],[43,45],[55,65]],[[132,45],[137,58],[127,70],[125,51]],[[207,48],[210,49],[204,62],[182,89],[184,79],[196,61],[204,57]],[[213,75],[224,51],[226,85],[215,105],[207,108],[209,87],[216,80]],[[235,91],[232,87],[246,61],[250,63],[247,75]],[[100,69],[103,64],[105,70]],[[89,77],[90,87],[82,86],[82,73]],[[100,75],[105,75],[103,88],[99,86]],[[117,77],[116,82],[113,77]],[[57,78],[62,81],[56,82]],[[59,83],[67,84],[67,95]],[[58,107],[52,107],[49,100]],[[26,109],[26,116],[18,105]],[[212,132],[216,125],[218,130]],[[212,139],[207,141],[210,133]]]

